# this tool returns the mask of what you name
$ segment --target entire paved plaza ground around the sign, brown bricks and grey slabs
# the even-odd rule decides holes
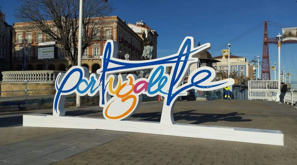
[[[163,102],[142,103],[131,120],[159,121]],[[280,130],[285,146],[110,130],[23,127],[22,115],[0,114],[0,164],[297,164],[297,109],[273,101],[177,102],[174,119],[191,123]],[[66,115],[102,117],[102,108]]]

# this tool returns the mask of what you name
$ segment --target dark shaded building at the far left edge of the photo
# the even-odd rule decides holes
[[[7,22],[5,22],[5,13],[2,13],[0,10],[0,73],[11,69],[11,27],[11,25],[8,25]],[[2,80],[2,75],[0,80]]]

